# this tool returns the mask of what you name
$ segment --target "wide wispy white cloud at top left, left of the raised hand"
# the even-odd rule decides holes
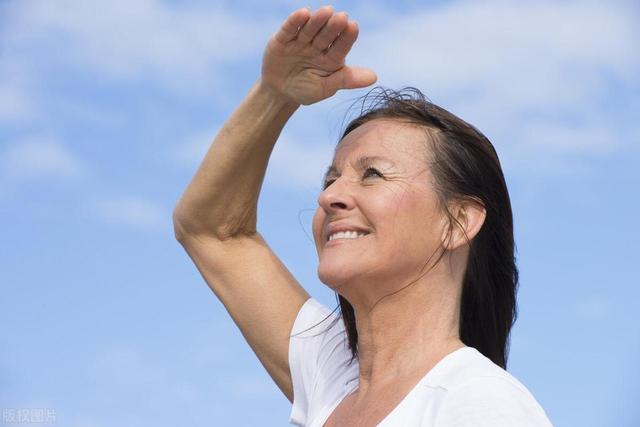
[[[22,51],[20,57],[37,54],[39,61],[100,76],[178,86],[260,52],[275,28],[268,19],[243,18],[220,5],[176,7],[158,0],[17,2],[9,16],[5,42]]]

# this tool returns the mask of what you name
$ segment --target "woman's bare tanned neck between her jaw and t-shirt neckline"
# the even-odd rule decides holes
[[[373,306],[353,305],[360,391],[426,374],[464,346],[459,338],[461,283],[426,275]],[[352,303],[353,304],[353,303]]]

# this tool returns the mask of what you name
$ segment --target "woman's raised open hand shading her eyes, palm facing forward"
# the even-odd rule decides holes
[[[339,89],[375,83],[372,70],[345,65],[358,37],[358,25],[331,6],[314,13],[298,9],[284,21],[267,45],[262,82],[297,104],[329,98]]]

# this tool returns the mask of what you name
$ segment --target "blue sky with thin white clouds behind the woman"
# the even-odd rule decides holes
[[[289,402],[173,239],[171,212],[268,37],[304,5],[321,3],[0,4],[3,413],[286,425]],[[509,371],[557,426],[638,425],[638,7],[334,5],[360,23],[351,64],[420,88],[498,150],[521,272]],[[311,215],[362,93],[295,115],[260,199],[259,230],[330,307]]]

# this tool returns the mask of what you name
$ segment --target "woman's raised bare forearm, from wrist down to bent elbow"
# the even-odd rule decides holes
[[[297,105],[256,82],[220,129],[174,212],[176,235],[226,239],[256,231],[269,156]]]

